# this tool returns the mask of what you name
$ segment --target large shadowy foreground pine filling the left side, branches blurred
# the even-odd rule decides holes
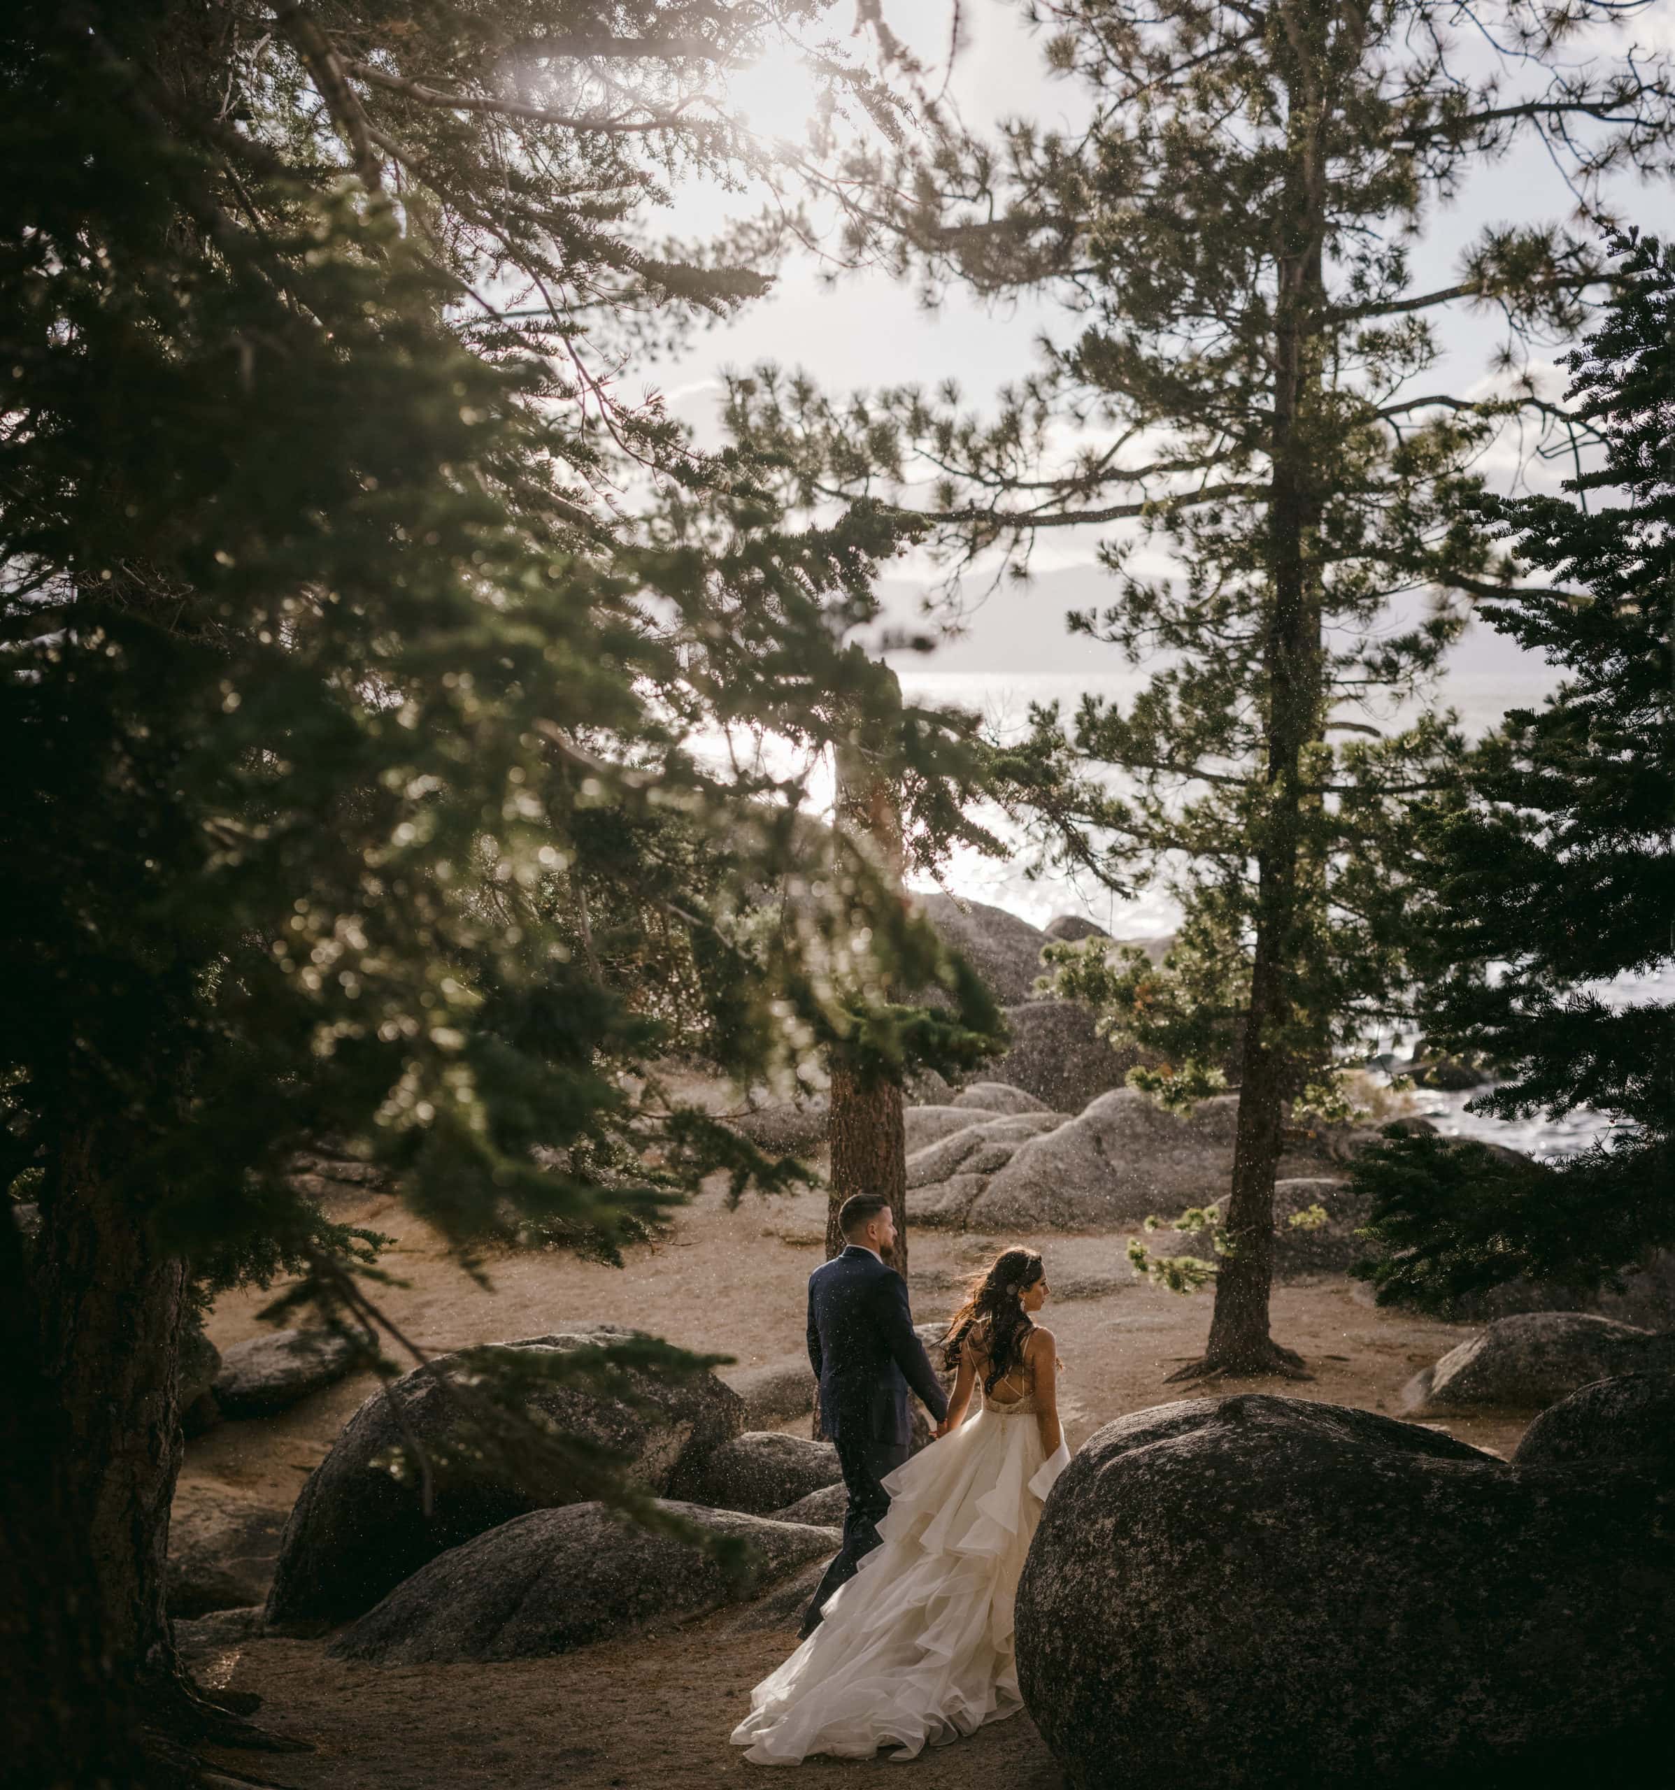
[[[843,644],[900,519],[786,526],[599,358],[761,290],[648,229],[680,170],[766,170],[705,84],[814,13],[0,20],[18,1781],[183,1783],[181,1738],[254,1738],[165,1618],[175,1362],[229,1278],[301,1274],[378,1332],[370,1242],[299,1196],[302,1144],[388,1165],[467,1262],[608,1255],[712,1169],[793,1172],[664,1099],[662,1051],[795,1074],[861,1022],[911,1054],[982,1020],[875,1015],[882,977],[956,1004],[970,979],[841,840],[759,925],[802,791],[700,750],[830,745],[841,705],[906,754],[923,825],[963,825],[979,755]],[[630,476],[682,501],[641,524]]]

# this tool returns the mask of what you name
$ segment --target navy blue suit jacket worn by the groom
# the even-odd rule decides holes
[[[909,1387],[938,1423],[948,1414],[913,1334],[907,1282],[857,1244],[809,1276],[809,1362],[820,1380],[820,1423],[834,1441],[843,1432],[906,1446]]]

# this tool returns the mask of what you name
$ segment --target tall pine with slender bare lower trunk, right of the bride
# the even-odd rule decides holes
[[[988,421],[952,385],[834,403],[762,369],[734,388],[735,431],[784,460],[791,496],[911,505],[956,571],[990,555],[1024,575],[1043,532],[1133,524],[1101,548],[1110,605],[1074,619],[1149,664],[1149,687],[1043,711],[1015,771],[1052,866],[1176,882],[1210,950],[1178,958],[1176,1008],[1194,984],[1231,995],[1194,1026],[1206,1049],[1237,1040],[1233,1253],[1204,1359],[1178,1378],[1301,1371],[1269,1335],[1287,1110],[1399,990],[1405,807],[1460,752],[1446,716],[1401,705],[1462,605],[1503,591],[1469,499],[1496,430],[1552,410],[1521,349],[1573,333],[1607,277],[1566,227],[1518,226],[1416,290],[1410,242],[1526,143],[1594,211],[1607,174],[1668,168],[1670,59],[1571,55],[1623,11],[1036,0],[1083,129],[1015,122],[982,145],[950,124],[936,156],[854,175],[904,274],[932,295],[1050,294],[1068,338]],[[1509,326],[1494,397],[1435,378],[1433,317],[1466,306]],[[1144,546],[1178,573],[1144,569]],[[1206,1065],[1174,1067],[1185,1094]]]

